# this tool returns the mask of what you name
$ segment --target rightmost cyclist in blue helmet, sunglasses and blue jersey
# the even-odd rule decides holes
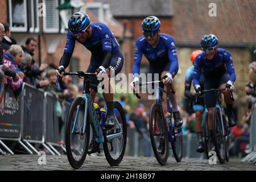
[[[234,92],[233,83],[236,80],[236,73],[230,52],[223,48],[218,48],[218,39],[213,34],[204,35],[201,38],[201,48],[203,52],[196,57],[193,76],[193,85],[195,86],[196,92],[200,93],[201,91],[199,84],[201,73],[204,75],[204,89],[217,89],[220,87],[230,88]],[[233,127],[236,125],[233,113],[233,101],[230,98],[228,90],[222,93],[224,94],[224,101],[227,107],[229,126]],[[216,104],[214,93],[204,93],[204,102],[209,111],[208,123],[209,130],[211,130],[212,111]]]

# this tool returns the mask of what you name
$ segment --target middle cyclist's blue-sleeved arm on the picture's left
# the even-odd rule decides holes
[[[135,44],[134,63],[133,63],[133,77],[139,77],[139,69],[141,66],[142,48],[141,40],[137,40]]]

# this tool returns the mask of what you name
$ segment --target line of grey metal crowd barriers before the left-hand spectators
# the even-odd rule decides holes
[[[56,101],[51,93],[26,83],[23,84],[22,93],[16,100],[13,90],[9,90],[0,82],[0,146],[3,147],[0,148],[0,154],[14,154],[2,140],[18,142],[28,154],[39,154],[37,148],[40,146],[52,155],[61,155],[55,147],[66,152],[65,122],[71,104],[61,103],[63,114],[60,118],[63,126],[59,128],[59,118],[55,111]]]

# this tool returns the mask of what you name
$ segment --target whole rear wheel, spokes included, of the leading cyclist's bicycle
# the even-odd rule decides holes
[[[104,153],[110,166],[118,166],[121,163],[123,156],[125,155],[127,140],[125,112],[123,111],[123,107],[117,101],[114,101],[114,114],[119,125],[116,123],[113,129],[103,131],[105,138],[105,142],[103,144]],[[121,136],[114,137],[113,139],[107,139],[109,135],[121,133],[121,130]]]

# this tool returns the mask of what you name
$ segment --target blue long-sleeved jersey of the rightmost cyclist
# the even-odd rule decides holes
[[[236,80],[232,56],[229,51],[223,48],[217,49],[217,54],[212,60],[207,59],[204,52],[196,56],[193,76],[194,86],[199,84],[201,72],[204,74],[205,78],[209,79],[218,79],[224,75],[224,73],[228,72],[229,80],[232,82]]]

